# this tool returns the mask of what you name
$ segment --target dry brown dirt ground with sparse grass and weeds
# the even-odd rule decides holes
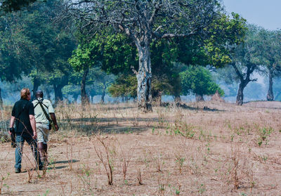
[[[60,104],[46,171],[25,145],[15,174],[14,149],[0,143],[1,194],[281,195],[280,102],[187,105]]]

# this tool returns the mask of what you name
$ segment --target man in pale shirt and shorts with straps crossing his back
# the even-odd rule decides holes
[[[38,90],[35,95],[37,99],[33,100],[32,103],[34,105],[36,129],[38,133],[38,148],[41,162],[46,165],[48,164],[48,138],[51,129],[51,127],[49,126],[49,119],[51,119],[53,121],[53,124],[55,125],[54,131],[58,131],[58,124],[55,118],[55,110],[53,110],[51,101],[43,98],[43,91],[41,90]],[[46,117],[39,102],[41,103],[48,117]],[[51,116],[51,118],[49,116]]]

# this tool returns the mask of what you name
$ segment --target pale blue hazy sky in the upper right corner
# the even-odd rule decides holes
[[[228,13],[242,15],[249,23],[268,30],[281,29],[281,0],[223,0]]]

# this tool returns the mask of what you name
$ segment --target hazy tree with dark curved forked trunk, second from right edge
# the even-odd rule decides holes
[[[259,28],[250,25],[244,43],[235,48],[232,62],[230,63],[235,70],[237,79],[240,80],[236,98],[237,105],[243,104],[243,91],[247,84],[250,81],[256,81],[256,79],[251,79],[251,74],[260,70],[261,65],[263,65],[263,51],[259,48],[261,40],[258,34]]]

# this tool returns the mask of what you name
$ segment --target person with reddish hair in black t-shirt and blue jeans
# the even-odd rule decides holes
[[[20,100],[13,106],[10,131],[15,132],[15,173],[20,173],[22,162],[22,148],[25,141],[32,148],[34,158],[37,162],[37,168],[43,170],[44,166],[39,158],[37,151],[37,131],[34,118],[34,107],[30,102],[30,89],[22,89],[20,91]],[[15,129],[13,128],[15,124]]]

